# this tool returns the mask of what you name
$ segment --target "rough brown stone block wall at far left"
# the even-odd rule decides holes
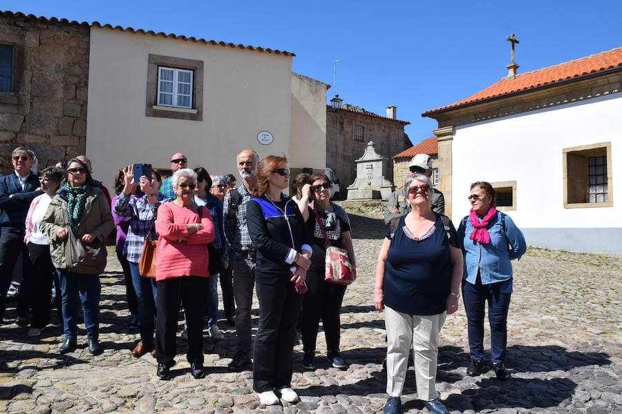
[[[84,154],[90,29],[86,23],[0,14],[0,42],[14,49],[12,92],[0,92],[2,173],[17,146],[40,168]]]

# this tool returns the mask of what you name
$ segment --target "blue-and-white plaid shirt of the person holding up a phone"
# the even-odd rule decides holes
[[[149,233],[149,229],[153,226],[153,219],[157,215],[158,207],[162,203],[171,201],[161,194],[158,194],[158,200],[160,200],[159,203],[149,204],[145,195],[127,197],[124,193],[121,193],[117,198],[115,213],[121,217],[132,218],[123,247],[123,254],[127,257],[128,262],[138,263],[140,261],[142,244],[144,244],[144,238]],[[155,226],[149,233],[149,239],[158,239]]]

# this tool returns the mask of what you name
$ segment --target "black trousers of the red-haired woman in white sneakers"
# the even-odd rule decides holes
[[[289,277],[281,277],[276,284],[256,284],[259,329],[253,355],[253,389],[258,393],[292,383],[296,320],[303,295],[296,293]]]

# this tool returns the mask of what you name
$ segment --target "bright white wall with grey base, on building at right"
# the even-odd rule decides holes
[[[453,221],[469,213],[475,181],[516,180],[516,210],[507,213],[531,246],[622,253],[622,95],[456,128]],[[564,208],[563,148],[611,142],[614,205]]]

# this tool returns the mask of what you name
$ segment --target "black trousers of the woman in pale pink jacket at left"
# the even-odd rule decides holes
[[[32,311],[32,328],[44,328],[50,322],[52,281],[56,273],[48,244],[28,243],[30,266],[23,273],[17,315]]]

